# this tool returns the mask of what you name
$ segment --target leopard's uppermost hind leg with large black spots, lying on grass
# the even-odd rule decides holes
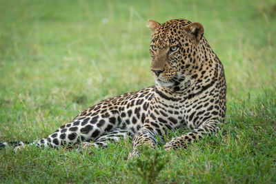
[[[38,147],[61,147],[64,145],[76,145],[87,141],[97,141],[99,137],[106,132],[114,132],[118,127],[118,114],[109,116],[78,116],[76,119],[59,127],[57,131],[44,139],[39,139],[28,145],[37,145]],[[15,147],[17,151],[26,145]]]

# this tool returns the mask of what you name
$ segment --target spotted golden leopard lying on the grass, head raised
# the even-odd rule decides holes
[[[147,25],[152,32],[150,72],[155,85],[92,105],[46,138],[2,142],[0,147],[97,149],[130,138],[128,159],[132,159],[139,156],[139,147],[155,149],[168,132],[180,128],[188,133],[164,143],[164,150],[186,149],[216,135],[226,115],[226,79],[221,61],[204,37],[203,25],[186,19],[162,24],[149,19]]]

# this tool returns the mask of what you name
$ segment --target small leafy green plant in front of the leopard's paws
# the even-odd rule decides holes
[[[157,183],[161,170],[168,163],[168,154],[162,154],[161,150],[152,150],[149,146],[139,147],[139,157],[128,164],[132,172],[137,172],[142,183]]]

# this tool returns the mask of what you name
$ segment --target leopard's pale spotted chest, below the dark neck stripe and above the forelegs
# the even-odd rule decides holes
[[[195,129],[212,116],[214,99],[207,95],[178,101],[157,101],[150,105],[148,116],[156,116],[157,123],[163,123],[172,130],[179,127]],[[152,115],[154,114],[154,115]]]

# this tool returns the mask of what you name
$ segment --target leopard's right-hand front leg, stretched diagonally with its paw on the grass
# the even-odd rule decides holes
[[[219,132],[217,122],[218,121],[210,120],[187,134],[175,137],[164,145],[165,150],[169,151],[171,149],[176,150],[178,148],[186,148],[189,143],[201,139],[206,134],[216,134]]]

